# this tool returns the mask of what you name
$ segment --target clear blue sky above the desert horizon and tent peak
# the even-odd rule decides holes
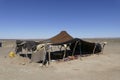
[[[120,0],[0,0],[0,39],[120,37]]]

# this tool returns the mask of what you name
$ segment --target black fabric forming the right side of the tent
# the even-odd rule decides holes
[[[76,44],[76,42],[77,42],[77,44]],[[93,52],[99,53],[102,51],[102,47],[99,43],[88,42],[88,41],[84,41],[79,38],[74,38],[74,39],[68,40],[66,42],[56,43],[56,44],[52,44],[52,45],[63,45],[63,44],[69,45],[71,51],[73,51],[75,44],[76,44],[75,54],[80,54],[80,53],[81,54],[90,54]]]

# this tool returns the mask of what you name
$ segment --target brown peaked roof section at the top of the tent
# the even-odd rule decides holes
[[[69,35],[66,31],[61,31],[59,34],[56,36],[50,38],[50,42],[53,44],[59,44],[59,43],[64,43],[66,41],[72,40],[73,37]]]

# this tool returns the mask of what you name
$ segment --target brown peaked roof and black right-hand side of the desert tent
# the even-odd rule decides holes
[[[99,43],[88,42],[79,38],[73,38],[66,31],[61,31],[56,36],[49,39],[51,45],[64,45],[66,44],[74,53],[90,54],[99,53],[102,47]]]

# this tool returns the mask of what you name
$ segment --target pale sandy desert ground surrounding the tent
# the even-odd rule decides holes
[[[104,53],[66,61],[52,61],[49,66],[28,63],[22,57],[10,58],[14,40],[4,40],[0,47],[0,80],[120,80],[120,38],[85,39],[107,41]]]

